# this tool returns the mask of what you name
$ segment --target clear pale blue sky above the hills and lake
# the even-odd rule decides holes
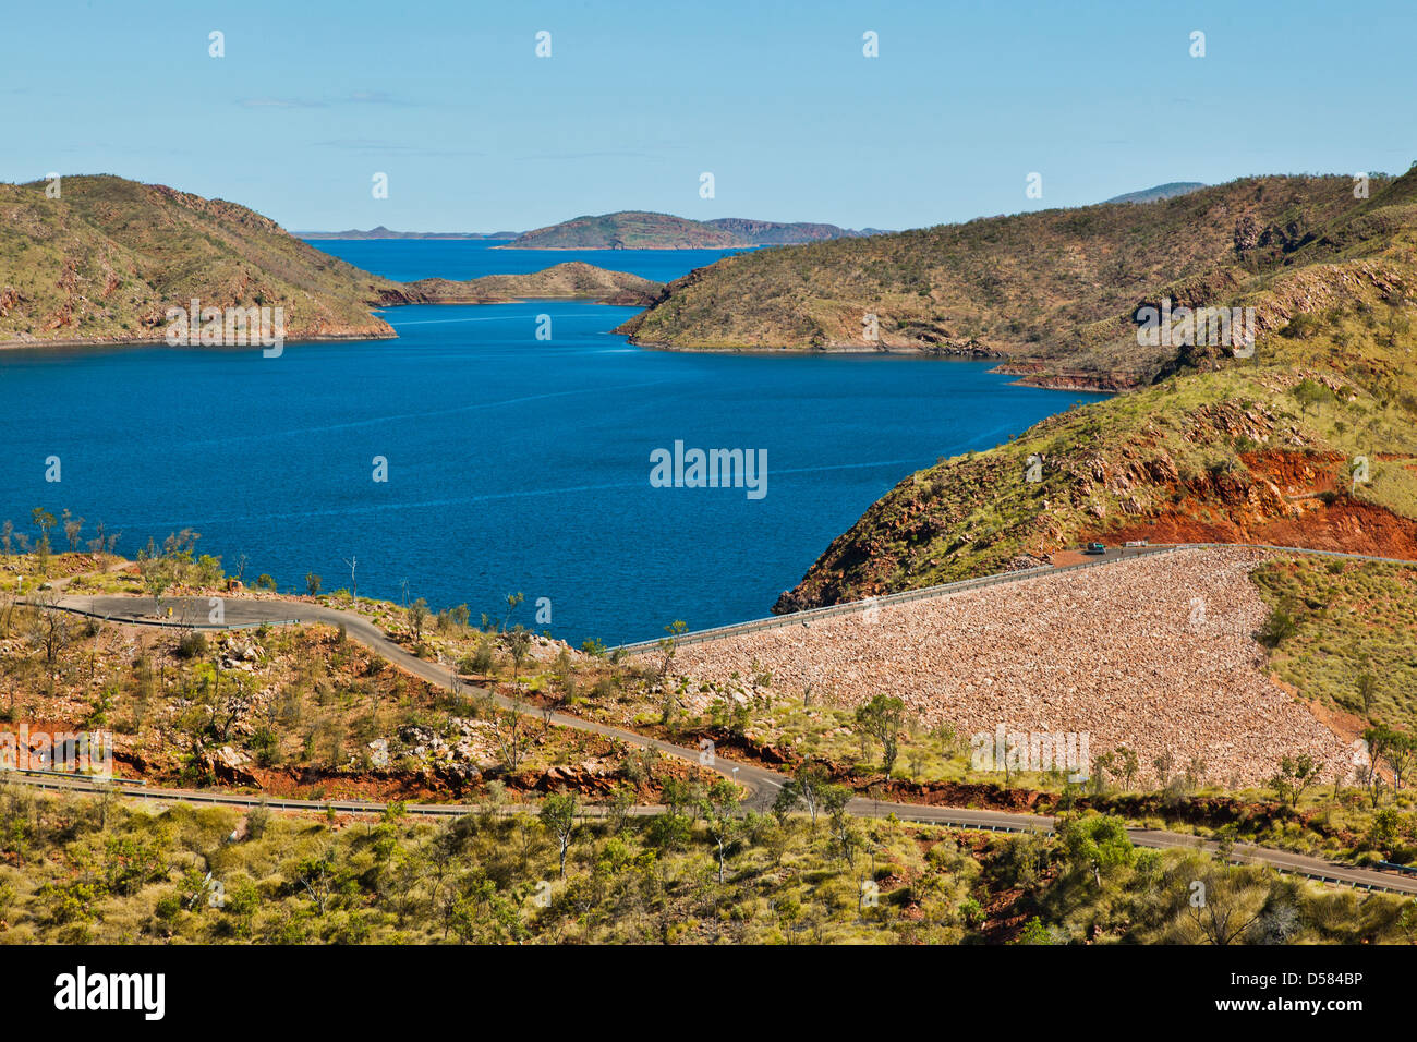
[[[1403,172],[1414,40],[1413,0],[16,3],[0,180],[116,173],[293,230],[626,208],[905,228]]]

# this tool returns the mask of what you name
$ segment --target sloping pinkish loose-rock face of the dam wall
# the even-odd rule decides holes
[[[1254,632],[1267,608],[1248,573],[1261,551],[1204,549],[1039,576],[809,627],[686,645],[674,672],[728,682],[757,666],[772,690],[806,685],[837,705],[904,699],[961,734],[1087,733],[1091,754],[1132,749],[1142,781],[1170,753],[1206,783],[1258,784],[1312,754],[1348,778],[1353,747],[1272,679]],[[874,621],[873,621],[874,620]]]

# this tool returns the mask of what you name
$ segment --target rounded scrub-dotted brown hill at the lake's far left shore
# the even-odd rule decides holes
[[[397,282],[235,203],[122,177],[0,184],[0,343],[160,340],[169,306],[283,306],[288,339],[387,337]]]

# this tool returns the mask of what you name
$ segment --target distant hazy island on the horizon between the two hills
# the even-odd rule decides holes
[[[718,217],[694,221],[673,214],[622,210],[599,217],[534,228],[497,250],[745,250],[883,234],[877,228],[839,228],[835,224],[755,221]]]

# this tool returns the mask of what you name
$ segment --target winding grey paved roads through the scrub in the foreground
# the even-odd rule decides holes
[[[344,632],[364,644],[371,651],[383,655],[395,665],[407,669],[415,676],[428,680],[429,683],[439,685],[442,688],[452,688],[453,675],[452,672],[435,662],[428,662],[415,655],[408,654],[400,645],[394,644],[388,637],[374,625],[368,618],[350,612],[340,611],[339,608],[326,608],[319,604],[306,604],[300,601],[281,601],[281,600],[247,600],[239,597],[225,597],[224,612],[225,624],[232,625],[259,625],[261,622],[324,622],[329,625],[343,625]],[[68,595],[62,597],[58,607],[68,611],[79,611],[89,615],[96,615],[101,618],[108,618],[115,622],[136,622],[136,624],[163,624],[173,625],[179,620],[190,620],[194,624],[205,624],[210,612],[210,604],[207,598],[169,598],[163,601],[163,611],[154,612],[153,603],[150,598],[137,597],[78,597]],[[166,608],[173,608],[171,620],[167,618]],[[479,688],[469,688],[462,685],[463,690],[472,690],[478,693],[489,693],[492,698],[506,709],[520,709],[523,712],[530,710],[524,705],[516,705],[510,699],[496,695],[493,692],[485,692]],[[565,713],[553,713],[551,722],[563,727],[572,727],[582,732],[589,732],[594,734],[602,734],[612,739],[619,739],[632,746],[642,749],[653,749],[663,756],[673,756],[691,763],[700,763],[710,770],[723,774],[724,777],[733,778],[741,784],[748,795],[745,804],[758,811],[765,811],[772,805],[782,784],[788,780],[786,775],[777,771],[768,770],[754,763],[734,761],[723,756],[714,756],[711,761],[704,763],[701,750],[689,749],[686,746],[676,746],[669,741],[660,741],[659,739],[652,739],[643,734],[636,734],[635,732],[622,730],[619,727],[611,727],[608,724],[595,723],[592,720],[584,720],[578,716],[568,716]],[[31,774],[24,778],[28,784],[37,784],[48,788],[68,788],[78,791],[94,791],[96,785],[77,778],[68,777],[54,777],[43,775],[38,773]],[[245,807],[261,802],[261,797],[241,797],[230,795],[221,792],[213,792],[210,790],[196,791],[196,790],[157,790],[152,787],[133,787],[126,785],[129,791],[140,792],[143,798],[150,800],[183,800],[191,802],[210,802],[210,804],[224,804],[234,807]],[[276,809],[313,809],[320,811],[326,807],[334,807],[336,811],[349,814],[377,814],[384,809],[384,804],[376,801],[305,801],[305,800],[266,800],[268,807]],[[459,815],[468,814],[476,809],[472,805],[452,805],[452,804],[410,804],[408,811],[412,814],[424,814],[434,817]],[[639,807],[635,808],[638,814],[653,814],[660,808],[653,807]],[[1051,832],[1054,819],[1040,815],[1030,814],[1013,814],[1007,811],[981,811],[969,809],[961,807],[927,807],[921,804],[897,804],[887,801],[877,801],[864,797],[857,797],[852,800],[847,805],[852,814],[860,817],[887,817],[894,814],[897,818],[904,821],[917,821],[924,824],[935,825],[955,825],[964,828],[981,828],[992,831],[1005,832]],[[1132,842],[1139,846],[1153,846],[1153,848],[1176,848],[1176,846],[1193,846],[1204,851],[1216,851],[1216,844],[1200,841],[1196,836],[1186,836],[1176,832],[1163,832],[1158,829],[1128,829]],[[1391,890],[1396,893],[1410,893],[1417,896],[1417,878],[1404,878],[1391,872],[1377,872],[1373,869],[1359,869],[1343,865],[1333,865],[1318,858],[1306,858],[1304,855],[1289,853],[1287,851],[1275,851],[1263,846],[1248,846],[1237,845],[1230,852],[1231,861],[1236,862],[1253,862],[1270,865],[1281,872],[1292,872],[1297,875],[1309,876],[1312,879],[1322,879],[1328,882],[1346,883],[1350,886],[1359,886],[1366,889],[1377,890]]]

